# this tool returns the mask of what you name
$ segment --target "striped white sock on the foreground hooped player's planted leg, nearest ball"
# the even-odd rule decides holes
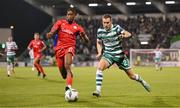
[[[103,73],[101,70],[98,69],[96,71],[96,90],[98,92],[101,92],[102,81],[103,81]]]

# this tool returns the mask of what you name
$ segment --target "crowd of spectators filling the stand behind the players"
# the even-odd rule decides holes
[[[180,19],[176,17],[166,19],[147,16],[129,17],[127,19],[117,17],[113,21],[133,34],[132,38],[124,41],[124,50],[129,50],[130,48],[153,49],[159,45],[163,48],[169,48],[170,40],[173,36],[180,34]],[[80,42],[80,38],[77,38],[77,56],[81,55],[79,57],[80,61],[93,60],[95,58],[93,58],[94,56],[90,57],[90,52],[91,54],[96,54],[96,32],[98,27],[101,26],[101,18],[81,17],[77,19],[77,22],[85,28],[92,44],[90,47],[87,47]],[[141,45],[138,39],[139,34],[152,34],[149,40],[151,44]],[[45,37],[45,34],[43,35]],[[46,43],[49,46],[46,54],[53,56],[53,40],[46,40]]]

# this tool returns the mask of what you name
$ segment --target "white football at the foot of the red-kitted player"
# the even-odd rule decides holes
[[[75,89],[69,89],[65,92],[65,100],[68,102],[76,102],[78,100],[78,92]]]

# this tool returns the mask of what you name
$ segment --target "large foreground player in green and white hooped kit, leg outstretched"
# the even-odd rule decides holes
[[[93,95],[101,96],[101,86],[103,81],[103,71],[114,63],[126,72],[128,77],[142,84],[142,86],[150,92],[149,84],[144,81],[138,74],[135,74],[131,67],[128,58],[122,51],[122,38],[131,36],[131,33],[121,28],[119,25],[112,24],[111,15],[105,14],[102,17],[103,28],[97,31],[97,58],[99,61],[96,71],[96,90]],[[104,49],[103,49],[104,46]]]

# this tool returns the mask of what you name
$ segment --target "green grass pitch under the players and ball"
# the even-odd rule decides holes
[[[161,72],[154,67],[133,70],[150,83],[148,93],[130,80],[118,68],[104,72],[102,97],[92,96],[95,90],[95,67],[75,67],[73,87],[79,92],[77,102],[64,100],[65,81],[57,67],[44,68],[47,78],[37,77],[30,67],[18,67],[7,77],[0,68],[0,107],[180,107],[180,68],[166,67]]]

